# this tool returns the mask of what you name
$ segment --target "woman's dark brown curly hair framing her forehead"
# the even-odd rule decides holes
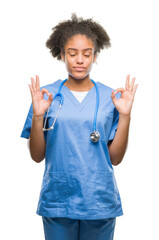
[[[110,38],[104,28],[91,18],[84,20],[82,17],[77,18],[72,13],[71,20],[59,22],[52,28],[53,33],[46,41],[46,47],[50,49],[53,57],[61,60],[61,51],[64,53],[64,47],[67,41],[76,34],[86,35],[92,40],[95,47],[95,54],[101,49],[111,46]]]

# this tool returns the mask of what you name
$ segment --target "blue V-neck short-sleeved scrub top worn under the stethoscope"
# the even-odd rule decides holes
[[[61,82],[57,80],[42,88],[54,97]],[[90,140],[96,107],[95,86],[81,103],[69,88],[62,86],[64,102],[54,129],[44,132],[45,170],[36,211],[40,216],[93,220],[123,215],[107,147],[115,136],[119,113],[111,99],[112,88],[96,84],[99,88],[96,130],[100,133],[96,143]],[[119,93],[116,96],[120,98]],[[59,100],[52,102],[47,127],[52,125],[58,107]],[[31,104],[21,137],[30,136],[32,114]],[[46,113],[44,120],[45,117]]]

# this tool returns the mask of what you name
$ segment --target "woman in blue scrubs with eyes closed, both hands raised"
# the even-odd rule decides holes
[[[97,54],[110,46],[92,19],[73,14],[53,28],[46,46],[65,63],[68,78],[41,89],[39,77],[31,78],[21,134],[29,138],[32,159],[45,158],[37,207],[45,239],[112,240],[116,217],[123,215],[113,165],[126,151],[138,85],[130,75],[116,91],[90,79]]]

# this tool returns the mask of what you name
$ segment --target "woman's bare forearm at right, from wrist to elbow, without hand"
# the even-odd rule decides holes
[[[119,122],[116,135],[110,145],[108,145],[110,159],[113,165],[118,165],[126,152],[130,125],[130,115],[119,115]]]

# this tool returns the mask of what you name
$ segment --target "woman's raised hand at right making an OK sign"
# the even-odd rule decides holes
[[[118,88],[116,92],[112,90],[112,101],[118,110],[119,114],[122,116],[129,116],[131,113],[135,92],[138,87],[138,84],[134,86],[135,78],[132,78],[130,83],[130,75],[126,77],[125,89]],[[121,92],[121,98],[117,99],[115,94]]]

